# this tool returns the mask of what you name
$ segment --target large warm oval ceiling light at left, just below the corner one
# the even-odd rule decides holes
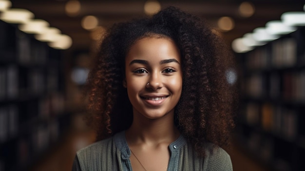
[[[34,14],[26,9],[8,9],[0,14],[0,19],[8,23],[25,23],[34,18]]]

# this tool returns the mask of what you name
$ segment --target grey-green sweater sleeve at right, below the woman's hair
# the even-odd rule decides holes
[[[204,162],[204,171],[233,171],[229,154],[220,147],[208,150]]]

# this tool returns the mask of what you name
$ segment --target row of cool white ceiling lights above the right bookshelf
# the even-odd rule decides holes
[[[303,8],[305,10],[305,5]],[[305,26],[305,12],[286,12],[282,14],[281,20],[269,21],[266,27],[256,28],[252,33],[236,38],[231,46],[236,53],[246,53],[257,46],[265,45],[269,41],[296,31],[298,26]]]

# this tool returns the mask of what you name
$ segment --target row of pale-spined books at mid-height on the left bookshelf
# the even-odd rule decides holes
[[[0,66],[0,102],[56,91],[59,81],[56,68],[24,69],[16,64]]]

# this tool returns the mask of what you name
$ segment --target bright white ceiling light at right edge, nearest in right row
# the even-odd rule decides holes
[[[281,19],[289,26],[305,26],[305,12],[286,12]]]

